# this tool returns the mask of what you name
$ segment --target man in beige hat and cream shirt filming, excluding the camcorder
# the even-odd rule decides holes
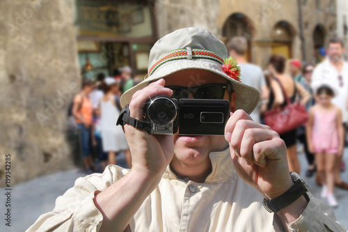
[[[174,31],[152,47],[148,77],[121,98],[141,121],[147,100],[207,98],[209,85],[234,112],[224,136],[154,136],[125,125],[132,169],[109,165],[77,179],[28,231],[345,231],[290,175],[278,134],[248,116],[259,93],[226,56],[209,31]]]

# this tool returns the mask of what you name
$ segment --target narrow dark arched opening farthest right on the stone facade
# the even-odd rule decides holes
[[[322,24],[317,24],[313,31],[313,49],[315,63],[321,62],[325,59],[325,29]]]

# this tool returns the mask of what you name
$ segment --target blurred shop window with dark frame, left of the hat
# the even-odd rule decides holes
[[[145,76],[157,40],[153,4],[148,1],[75,0],[75,30],[81,75],[114,77],[129,66]]]

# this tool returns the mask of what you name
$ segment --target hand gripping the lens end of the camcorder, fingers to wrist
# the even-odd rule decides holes
[[[170,97],[173,91],[164,87],[164,79],[136,91],[129,103],[130,116],[143,120],[144,105],[157,95]],[[173,135],[151,135],[131,125],[125,125],[125,135],[132,154],[132,171],[161,176],[174,155]]]

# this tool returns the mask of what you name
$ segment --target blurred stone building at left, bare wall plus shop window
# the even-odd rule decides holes
[[[68,107],[83,77],[115,76],[124,65],[145,75],[158,38],[153,6],[141,0],[0,1],[0,186],[81,164]]]

